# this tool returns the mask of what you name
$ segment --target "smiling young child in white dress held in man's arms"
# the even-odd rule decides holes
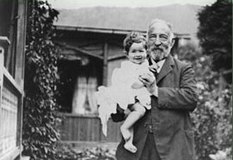
[[[152,73],[149,71],[147,61],[146,39],[142,34],[137,32],[128,34],[123,46],[128,61],[122,62],[121,67],[113,71],[110,87],[98,88],[97,104],[105,135],[107,120],[111,113],[116,113],[117,104],[128,113],[120,129],[125,140],[125,149],[135,153],[137,148],[133,145],[133,125],[145,114],[146,109],[151,109],[150,94],[138,78],[142,74]]]

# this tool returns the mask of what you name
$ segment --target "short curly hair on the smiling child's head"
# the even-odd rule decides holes
[[[142,33],[131,32],[126,36],[126,38],[123,41],[123,47],[127,54],[133,43],[143,43],[143,47],[147,49],[147,41]]]

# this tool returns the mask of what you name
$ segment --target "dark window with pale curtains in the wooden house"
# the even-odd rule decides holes
[[[102,61],[88,58],[82,60],[61,59],[58,65],[60,84],[58,103],[62,112],[73,114],[96,114],[95,92],[102,82]]]

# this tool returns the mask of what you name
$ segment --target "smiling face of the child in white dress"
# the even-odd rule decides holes
[[[145,61],[146,59],[146,49],[143,45],[143,43],[133,43],[131,47],[129,48],[128,52],[128,58],[129,61],[136,63],[136,64],[141,64]]]

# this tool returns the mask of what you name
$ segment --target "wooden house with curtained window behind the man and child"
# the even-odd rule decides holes
[[[126,60],[122,42],[131,31],[56,25],[55,43],[61,49],[58,102],[64,116],[60,130],[63,142],[120,141],[120,123],[109,121],[107,137],[102,134],[94,93],[98,86],[110,85],[112,71]],[[189,39],[189,35],[176,34],[173,49],[180,39]]]

